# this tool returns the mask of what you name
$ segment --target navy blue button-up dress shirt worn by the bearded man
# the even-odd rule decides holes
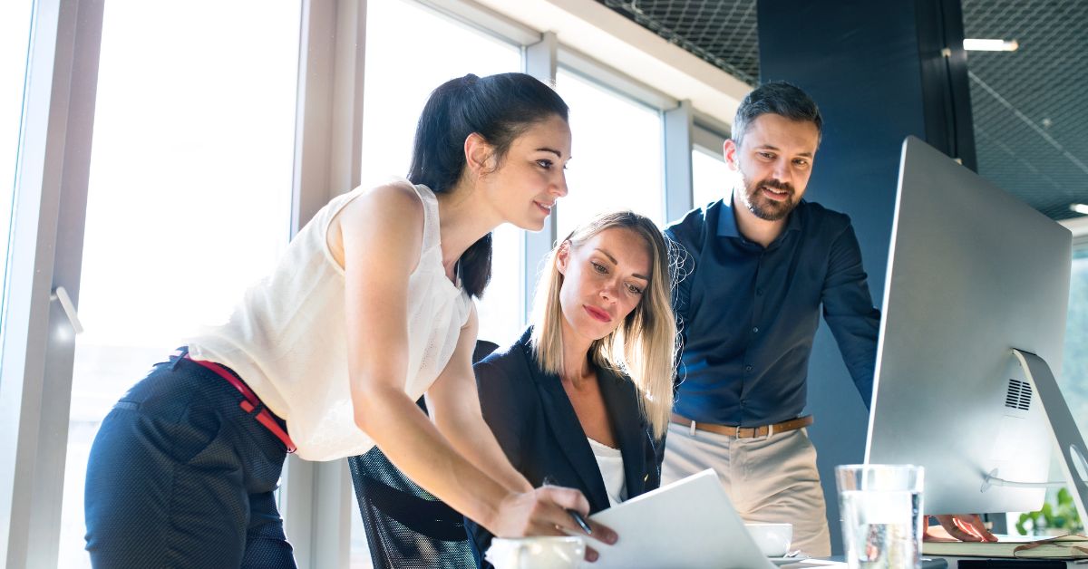
[[[740,234],[727,197],[665,233],[681,246],[676,412],[742,426],[799,417],[821,307],[869,405],[880,312],[849,217],[802,200],[764,248]]]

